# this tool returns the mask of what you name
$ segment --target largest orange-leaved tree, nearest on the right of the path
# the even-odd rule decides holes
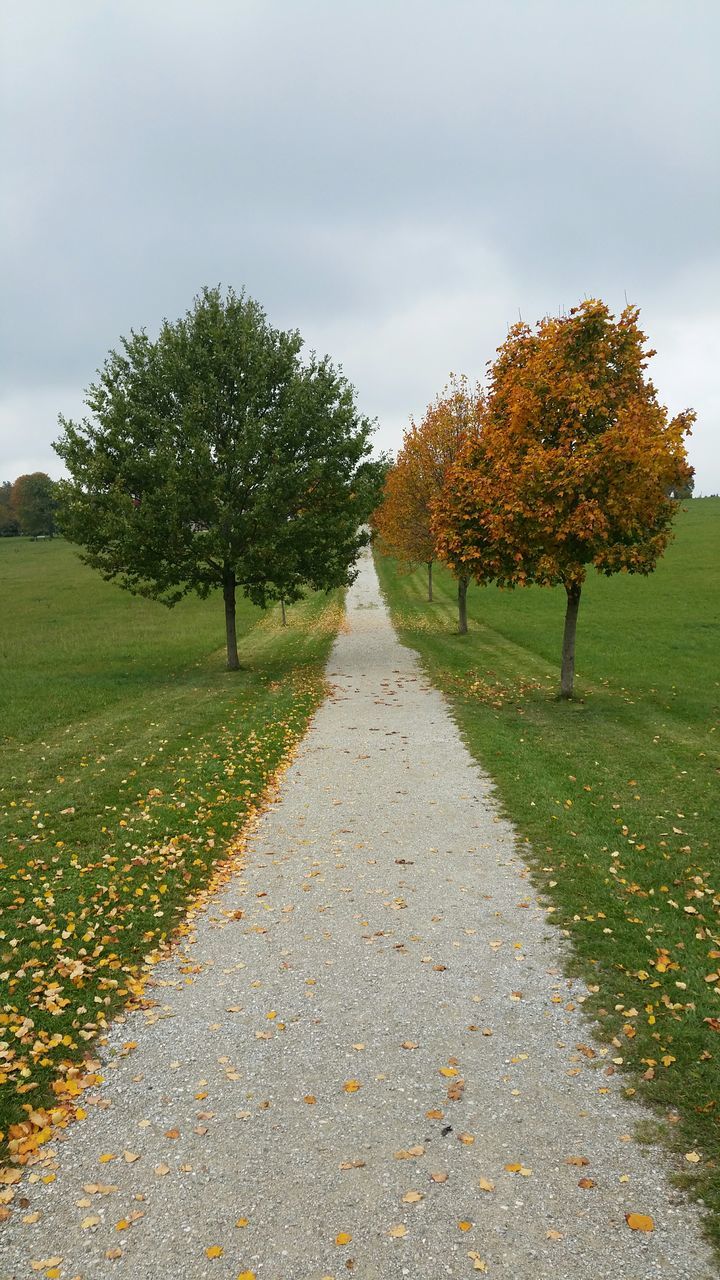
[[[571,698],[575,630],[589,566],[651,573],[692,467],[687,410],[669,420],[646,376],[655,352],[628,306],[588,300],[534,329],[516,324],[489,375],[480,435],[437,504],[438,554],[501,586],[562,584],[560,696]]]

